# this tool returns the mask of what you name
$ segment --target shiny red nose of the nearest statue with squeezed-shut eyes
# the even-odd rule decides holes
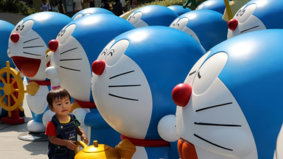
[[[178,84],[173,88],[172,99],[175,104],[185,107],[191,98],[192,86],[186,83]]]

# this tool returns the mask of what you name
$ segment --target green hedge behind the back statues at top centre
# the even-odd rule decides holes
[[[183,5],[185,4],[186,0],[162,0],[162,1],[155,1],[155,0],[138,0],[139,1],[139,7],[144,7],[148,5],[162,5],[165,7],[172,6],[172,5]],[[202,2],[207,1],[207,0],[196,0],[196,3],[200,5]],[[145,3],[143,3],[145,2]],[[138,8],[139,8],[138,7]],[[191,10],[195,10],[195,7],[193,5],[188,7]],[[122,18],[126,19],[132,12],[129,14],[123,16]]]

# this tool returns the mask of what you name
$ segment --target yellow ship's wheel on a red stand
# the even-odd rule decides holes
[[[27,91],[24,90],[24,83],[20,76],[21,72],[16,71],[15,69],[10,67],[10,62],[6,62],[6,66],[0,69],[0,81],[4,83],[4,87],[0,87],[0,90],[4,90],[4,95],[0,94],[0,106],[8,111],[8,116],[12,117],[12,111],[15,109],[20,109],[24,111],[21,107],[24,101],[24,93]],[[6,73],[7,79],[3,77]],[[14,77],[14,79],[10,77]],[[4,99],[7,97],[7,103]],[[11,99],[13,98],[13,100]],[[12,103],[12,101],[14,101]]]

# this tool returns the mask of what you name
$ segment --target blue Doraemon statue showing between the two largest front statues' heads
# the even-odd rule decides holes
[[[194,37],[205,50],[227,39],[227,22],[213,10],[193,10],[176,18],[170,27]]]

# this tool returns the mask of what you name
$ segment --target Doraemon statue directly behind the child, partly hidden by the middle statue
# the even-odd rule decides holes
[[[45,75],[52,85],[60,85],[74,98],[71,110],[90,141],[109,146],[120,141],[119,133],[96,109],[91,95],[91,64],[112,38],[132,29],[132,24],[118,16],[93,14],[71,21],[56,40],[49,42],[51,62]]]

